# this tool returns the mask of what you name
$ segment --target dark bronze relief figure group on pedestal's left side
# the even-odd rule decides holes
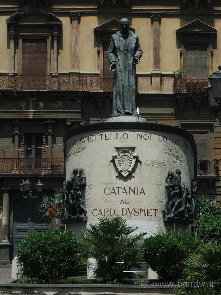
[[[85,208],[86,176],[83,168],[73,168],[73,176],[63,182],[63,218],[86,216]]]

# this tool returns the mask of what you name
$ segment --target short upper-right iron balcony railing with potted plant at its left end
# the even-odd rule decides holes
[[[175,78],[174,92],[206,93],[208,78]]]

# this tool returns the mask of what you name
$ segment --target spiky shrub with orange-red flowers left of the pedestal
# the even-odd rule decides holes
[[[59,188],[53,194],[42,196],[38,210],[44,222],[51,222],[53,218],[62,217],[63,207],[62,188]]]

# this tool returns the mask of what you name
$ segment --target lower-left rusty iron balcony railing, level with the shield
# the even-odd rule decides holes
[[[64,174],[64,159],[0,159],[1,174]]]

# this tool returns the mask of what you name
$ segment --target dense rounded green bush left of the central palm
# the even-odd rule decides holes
[[[39,283],[56,283],[77,271],[75,263],[78,237],[74,232],[56,229],[26,236],[17,256],[24,275]]]

